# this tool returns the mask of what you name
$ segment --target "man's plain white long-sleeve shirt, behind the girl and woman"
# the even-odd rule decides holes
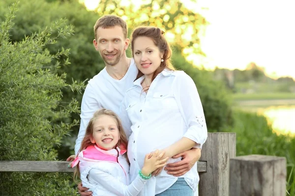
[[[133,86],[137,73],[137,67],[132,59],[127,73],[120,80],[112,78],[106,68],[89,80],[81,104],[81,123],[75,144],[75,154],[80,149],[86,127],[94,112],[105,108],[118,114],[125,92]]]

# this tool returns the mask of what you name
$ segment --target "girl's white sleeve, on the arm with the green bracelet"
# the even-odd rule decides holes
[[[90,170],[89,178],[117,196],[137,196],[148,181],[137,175],[132,183],[127,186],[116,177],[99,169]]]

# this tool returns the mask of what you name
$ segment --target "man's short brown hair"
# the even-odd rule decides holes
[[[95,25],[94,25],[94,37],[95,37],[95,40],[97,41],[96,32],[97,32],[97,29],[99,27],[101,27],[101,28],[109,28],[109,27],[114,27],[114,26],[122,27],[124,38],[126,39],[127,38],[127,33],[128,33],[126,22],[123,19],[121,19],[120,17],[118,17],[118,16],[105,15],[105,16],[99,18],[96,21]]]

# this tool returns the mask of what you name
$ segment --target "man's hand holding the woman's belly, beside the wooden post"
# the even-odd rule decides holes
[[[200,159],[201,157],[201,149],[200,148],[192,148],[185,152],[181,152],[172,158],[182,157],[181,161],[176,163],[169,163],[165,167],[164,170],[168,171],[168,174],[174,175],[176,177],[181,176],[188,172],[194,164]]]

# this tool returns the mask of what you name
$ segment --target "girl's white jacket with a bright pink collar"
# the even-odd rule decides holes
[[[72,167],[79,163],[82,184],[92,191],[92,196],[137,196],[147,180],[138,175],[129,185],[125,152],[119,147],[102,150],[89,146],[78,154]]]

